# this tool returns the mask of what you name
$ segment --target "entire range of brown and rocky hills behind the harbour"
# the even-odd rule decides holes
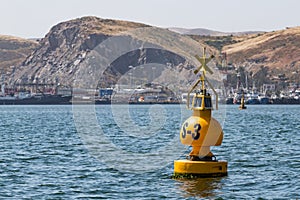
[[[220,61],[219,65],[222,59],[221,52],[225,52],[227,63],[236,69],[243,68],[243,72],[249,76],[248,81],[255,81],[257,87],[263,83],[287,85],[300,82],[299,27],[267,33],[248,32],[223,36],[199,35],[200,30],[204,34],[222,33],[206,29],[195,29],[194,32],[177,29],[184,34],[196,34],[181,35],[141,23],[82,17],[55,25],[39,43],[1,36],[1,67],[7,74],[11,74],[10,82],[13,83],[58,81],[63,85],[71,85],[80,75],[79,71],[85,72],[86,80],[91,75],[99,77],[100,75],[89,74],[95,72],[92,69],[93,64],[103,62],[103,57],[99,58],[95,48],[97,49],[100,43],[109,42],[109,38],[119,38],[121,41],[117,45],[114,44],[116,46],[110,46],[103,52],[106,59],[114,56],[119,50],[124,50],[124,55],[106,63],[109,67],[105,70],[105,78],[101,83],[107,84],[102,85],[103,87],[116,83],[128,72],[129,66],[132,68],[151,63],[172,66],[180,72],[174,79],[190,83],[193,79],[194,64],[197,65],[198,62],[188,63],[182,55],[193,60],[195,54],[202,54],[202,46],[207,47],[208,54],[220,55],[217,59]],[[138,48],[132,52],[125,52],[124,48],[128,46]],[[146,49],[145,46],[152,49]],[[98,59],[95,61],[97,63],[91,64],[90,61],[94,58]],[[149,77],[154,76],[152,70],[145,70],[144,73]],[[231,73],[231,77],[236,75],[235,71],[228,73]],[[242,75],[242,78],[245,79],[245,75]],[[160,79],[167,80],[167,76],[162,75]],[[233,85],[236,79],[229,78],[229,82]]]

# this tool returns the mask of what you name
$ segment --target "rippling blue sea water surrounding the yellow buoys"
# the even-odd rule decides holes
[[[172,179],[179,105],[0,106],[1,199],[300,199],[300,106],[221,105],[228,176]]]

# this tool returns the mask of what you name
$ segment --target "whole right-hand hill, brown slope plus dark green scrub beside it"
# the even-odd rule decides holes
[[[215,48],[217,55],[225,52],[227,63],[236,69],[243,67],[257,86],[281,81],[285,85],[300,83],[300,27],[266,33],[190,37]],[[235,71],[231,73],[234,76]]]

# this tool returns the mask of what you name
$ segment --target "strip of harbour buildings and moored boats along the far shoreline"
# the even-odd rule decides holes
[[[92,94],[82,92],[79,95],[73,94],[72,89],[68,89],[67,94],[53,93],[30,93],[18,92],[16,94],[0,95],[0,105],[63,105],[63,104],[185,104],[186,93],[180,96],[169,95],[164,92],[157,92],[152,89],[145,91],[127,90],[127,92],[115,91],[110,89],[110,95],[99,95],[101,91],[107,89],[92,90]],[[241,93],[236,93],[233,97],[221,97],[220,104],[240,104]],[[255,94],[254,96],[246,94],[244,96],[245,104],[265,105],[265,104],[300,104],[299,92],[292,93],[289,96],[266,97]]]

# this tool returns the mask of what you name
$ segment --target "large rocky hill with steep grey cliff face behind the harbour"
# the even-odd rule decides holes
[[[17,84],[39,82],[72,87],[84,85],[85,88],[108,87],[122,76],[132,79],[128,72],[137,66],[155,63],[169,66],[181,75],[170,78],[170,73],[158,70],[161,66],[152,65],[140,71],[141,78],[148,79],[144,83],[154,76],[161,82],[168,80],[170,84],[181,79],[181,83],[187,83],[194,80],[193,66],[184,56],[195,59],[195,54],[202,53],[201,45],[187,38],[166,29],[133,22],[96,17],[70,20],[50,30],[11,80]]]

